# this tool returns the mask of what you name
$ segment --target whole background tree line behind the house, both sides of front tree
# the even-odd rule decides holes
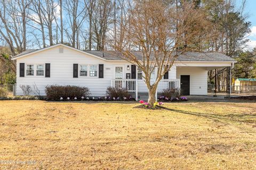
[[[107,49],[109,34],[122,42],[123,28],[129,27],[129,8],[140,1],[132,0],[0,0],[0,40],[10,47],[12,55],[27,48],[43,48],[57,43],[87,50]],[[143,1],[141,1],[143,2]],[[246,41],[249,31],[242,10],[233,0],[191,1],[166,0],[182,8],[194,3],[204,8],[218,36],[205,43],[198,40],[197,50],[217,50],[231,56]],[[217,17],[216,17],[217,16]],[[232,22],[236,21],[236,24]],[[172,21],[170,21],[172,22]],[[186,35],[189,35],[187,32]]]

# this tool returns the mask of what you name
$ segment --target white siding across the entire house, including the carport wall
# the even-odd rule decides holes
[[[25,77],[19,77],[19,66],[20,63],[25,63]],[[51,63],[51,77],[45,78],[44,76],[36,76],[37,64]],[[73,63],[78,63],[78,78],[73,78]],[[224,67],[230,66],[229,63],[216,63],[216,62],[177,62],[178,66],[186,66],[182,69],[177,70],[176,66],[173,66],[169,71],[169,79],[180,78],[180,74],[190,75],[190,94],[191,95],[201,95],[207,94],[207,71],[206,67]],[[98,78],[99,64],[104,64],[104,78]],[[45,95],[45,86],[58,84],[61,86],[71,85],[71,86],[82,86],[88,87],[91,92],[91,96],[105,96],[107,87],[111,86],[111,80],[116,78],[115,69],[116,67],[122,67],[121,72],[118,72],[119,78],[125,79],[126,73],[131,73],[127,70],[127,65],[130,63],[126,61],[106,61],[101,60],[98,57],[84,54],[78,52],[77,50],[70,49],[68,47],[63,47],[63,53],[59,53],[59,46],[50,49],[42,50],[41,52],[30,54],[25,57],[17,59],[17,95],[23,95],[20,85],[29,85],[32,90],[36,86],[40,90],[42,96]],[[33,69],[29,68],[29,74],[27,75],[27,65],[33,65]],[[43,72],[45,72],[45,64]],[[87,66],[87,77],[80,76],[80,65]],[[96,77],[90,77],[90,66],[94,65],[93,70],[91,70],[92,75]],[[191,66],[191,67],[187,67]],[[201,67],[200,67],[201,66]],[[86,70],[85,69],[85,70]],[[84,70],[84,69],[83,69]],[[156,70],[157,71],[157,70]],[[42,72],[42,71],[40,71]],[[45,73],[44,73],[45,74]],[[121,77],[122,76],[122,77]],[[137,74],[138,78],[138,74]],[[154,82],[155,80],[151,80]],[[201,87],[201,88],[199,88]],[[142,80],[138,81],[138,92],[148,92],[145,82]],[[160,93],[161,91],[159,91]],[[31,93],[30,95],[36,95]]]

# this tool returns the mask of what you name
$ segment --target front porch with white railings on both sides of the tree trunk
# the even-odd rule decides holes
[[[151,83],[154,83],[152,81]],[[136,100],[145,99],[148,96],[146,84],[142,80],[137,79],[113,79],[111,87],[125,88]],[[156,98],[164,89],[180,89],[179,79],[163,79],[158,83]]]

